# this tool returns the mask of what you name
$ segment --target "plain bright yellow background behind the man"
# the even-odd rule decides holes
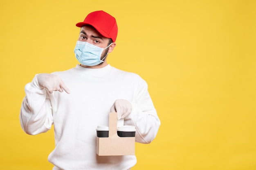
[[[119,27],[108,63],[147,81],[162,123],[132,170],[256,170],[255,0],[1,0],[0,169],[52,169],[53,130],[20,127],[24,86],[78,63],[96,10]]]

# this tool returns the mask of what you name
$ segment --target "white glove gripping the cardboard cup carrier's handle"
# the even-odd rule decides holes
[[[132,105],[129,101],[124,99],[117,99],[112,107],[110,108],[110,112],[117,112],[117,119],[125,118],[132,111]]]

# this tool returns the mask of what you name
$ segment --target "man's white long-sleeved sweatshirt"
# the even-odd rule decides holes
[[[100,69],[76,65],[52,74],[58,75],[71,93],[49,94],[39,87],[35,76],[25,86],[20,123],[30,135],[44,133],[54,124],[56,147],[48,157],[53,170],[128,170],[134,166],[134,155],[98,156],[96,128],[108,125],[110,107],[115,100],[125,99],[132,104],[132,112],[124,124],[136,127],[136,142],[150,143],[160,121],[146,82],[137,74],[110,65]]]

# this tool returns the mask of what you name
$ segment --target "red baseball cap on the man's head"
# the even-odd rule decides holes
[[[77,27],[84,25],[93,26],[101,35],[111,38],[113,42],[117,39],[116,19],[104,11],[89,13],[83,22],[76,24]]]

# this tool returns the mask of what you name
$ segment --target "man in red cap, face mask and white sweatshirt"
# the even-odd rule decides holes
[[[134,155],[96,154],[96,128],[108,125],[109,112],[117,112],[125,125],[136,127],[136,142],[150,143],[160,121],[147,84],[137,74],[107,63],[116,46],[114,17],[94,11],[76,26],[81,30],[75,56],[81,64],[63,72],[36,74],[25,86],[22,129],[36,135],[54,124],[56,147],[48,157],[53,170],[128,170],[136,163]]]

